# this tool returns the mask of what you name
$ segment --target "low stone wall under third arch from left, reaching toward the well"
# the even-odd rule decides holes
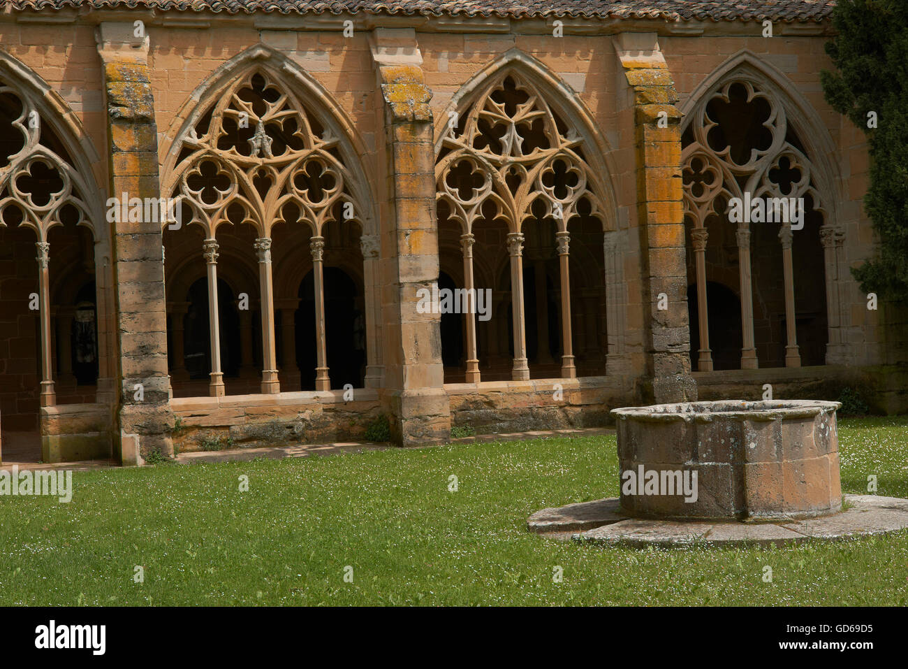
[[[629,404],[633,382],[623,376],[590,376],[445,384],[445,391],[452,427],[496,434],[614,423],[608,412]]]

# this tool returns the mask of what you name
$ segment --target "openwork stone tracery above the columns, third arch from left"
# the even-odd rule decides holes
[[[581,201],[589,215],[604,210],[581,144],[535,86],[515,73],[498,75],[442,138],[437,198],[467,234],[489,204],[518,231],[536,202],[565,230]]]

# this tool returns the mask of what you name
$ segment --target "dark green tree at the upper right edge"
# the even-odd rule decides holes
[[[854,269],[864,292],[908,298],[908,0],[838,0],[821,73],[826,102],[864,131],[870,187],[864,209],[879,254]],[[877,127],[868,127],[875,112]]]

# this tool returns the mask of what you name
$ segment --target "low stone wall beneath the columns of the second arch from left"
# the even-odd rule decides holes
[[[214,447],[324,444],[364,441],[366,429],[381,414],[379,394],[342,390],[171,399],[176,418],[173,444],[180,452]]]

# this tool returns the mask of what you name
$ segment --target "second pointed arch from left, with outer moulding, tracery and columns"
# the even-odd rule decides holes
[[[212,305],[218,304],[218,228],[232,224],[239,231],[245,227],[242,224],[248,224],[254,229],[255,239],[250,241],[258,255],[260,274],[261,389],[262,393],[278,393],[277,351],[293,350],[293,335],[287,327],[291,319],[286,315],[298,303],[294,291],[278,305],[284,316],[279,347],[274,311],[276,297],[281,295],[275,295],[273,286],[272,230],[285,223],[294,235],[307,237],[285,243],[273,252],[281,261],[281,255],[295,253],[299,245],[308,242],[318,294],[316,309],[323,311],[323,254],[341,252],[331,248],[330,224],[355,227],[359,233],[374,233],[377,225],[374,182],[366,178],[360,162],[362,144],[327,91],[291,59],[264,45],[256,45],[219,67],[192,94],[174,121],[173,127],[176,125],[180,129],[169,137],[165,148],[162,194],[178,203],[186,225],[199,225],[204,231]],[[163,225],[165,229],[174,227],[172,221]],[[281,227],[281,235],[287,225]],[[370,309],[367,312],[374,313]],[[225,391],[217,350],[219,322],[213,306],[209,316],[209,393],[219,395]],[[324,318],[317,317],[315,326],[316,389],[329,390]],[[371,346],[370,351],[374,350]],[[289,366],[292,368],[295,362]],[[284,374],[284,378],[291,386],[299,383],[295,372]]]

